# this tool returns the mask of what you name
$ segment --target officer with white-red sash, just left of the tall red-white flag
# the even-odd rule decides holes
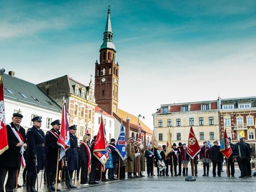
[[[60,136],[60,120],[57,119],[51,123],[53,128],[46,133],[46,182],[47,192],[55,191],[55,178],[56,178],[56,167],[58,150],[60,149],[57,144]],[[59,162],[59,169],[61,168],[61,162]],[[57,189],[57,191],[61,191]]]

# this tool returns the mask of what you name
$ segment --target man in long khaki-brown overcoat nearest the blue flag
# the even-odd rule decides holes
[[[135,148],[133,146],[133,137],[128,138],[128,144],[126,145],[127,161],[126,161],[126,172],[128,172],[127,178],[133,179],[132,173],[134,171],[135,163]]]

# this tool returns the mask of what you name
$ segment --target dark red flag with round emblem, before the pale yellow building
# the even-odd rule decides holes
[[[188,155],[191,157],[191,159],[194,159],[194,157],[198,154],[200,151],[200,146],[197,142],[196,136],[194,134],[192,126],[190,127],[190,132],[189,132],[189,139],[188,139]]]

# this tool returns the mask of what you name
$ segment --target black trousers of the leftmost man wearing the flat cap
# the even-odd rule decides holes
[[[8,172],[8,178],[5,184],[5,191],[12,192],[15,185],[17,168],[0,167],[0,192],[4,192],[4,180]]]

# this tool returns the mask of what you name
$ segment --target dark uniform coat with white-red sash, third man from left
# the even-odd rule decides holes
[[[54,128],[46,132],[46,145],[45,145],[46,165],[45,166],[46,166],[46,171],[48,172],[56,172],[58,149],[60,149],[60,146],[57,144],[59,135],[60,135],[60,132],[55,131]],[[59,168],[61,168],[60,162],[59,162]]]

